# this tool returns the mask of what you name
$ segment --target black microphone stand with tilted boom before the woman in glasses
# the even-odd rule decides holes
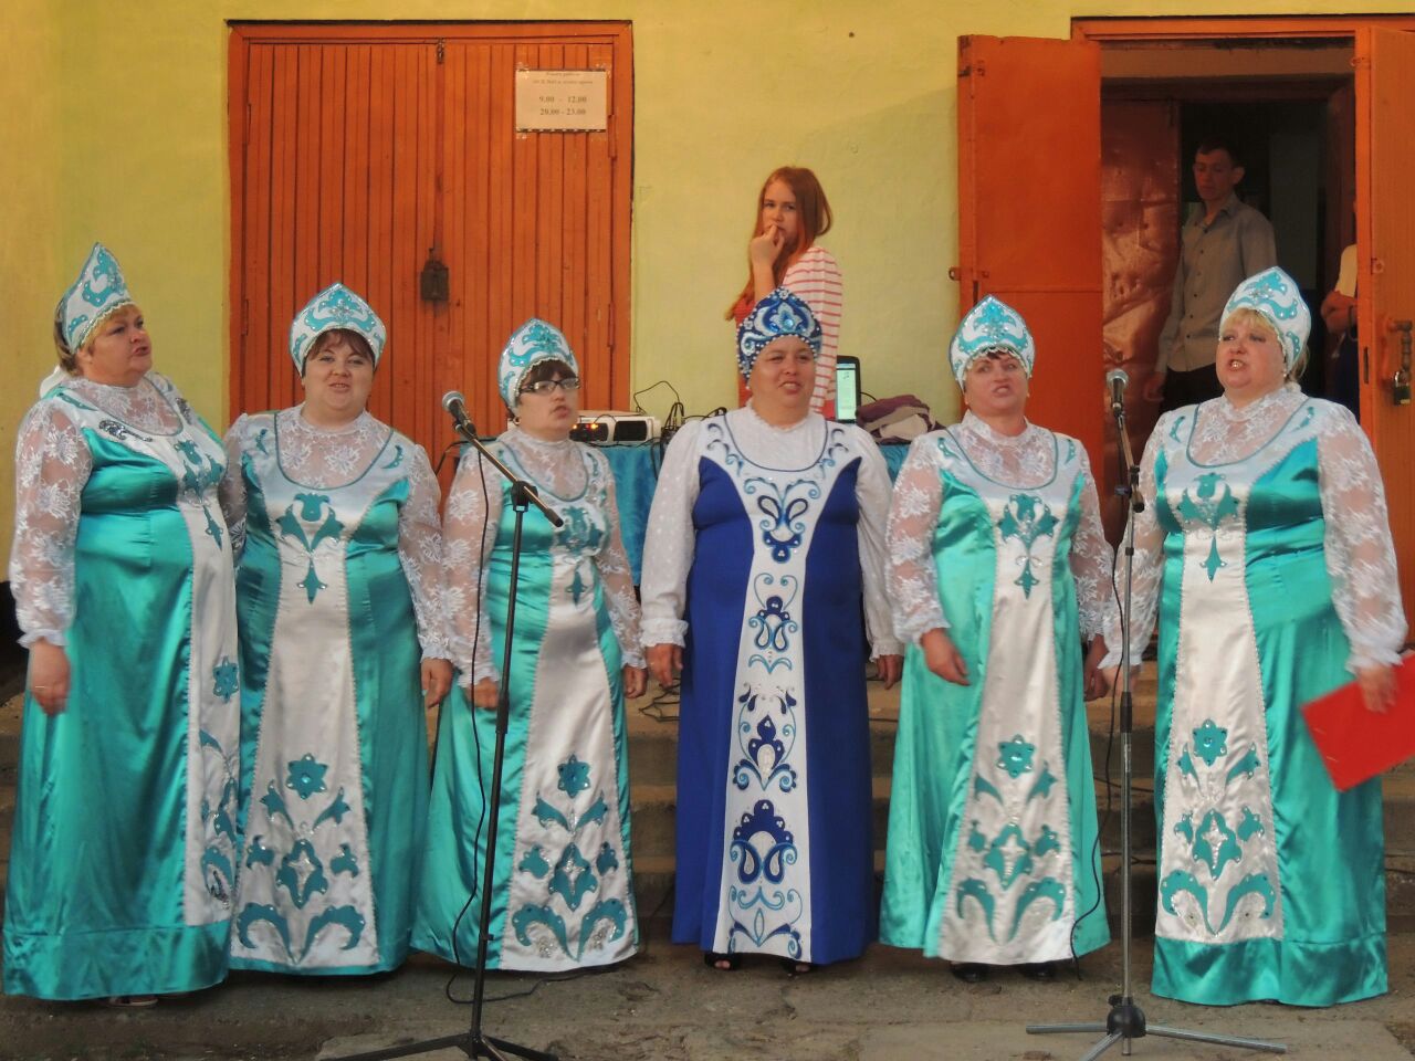
[[[497,695],[497,748],[491,767],[491,796],[488,799],[487,826],[487,854],[483,859],[484,870],[481,876],[481,932],[477,938],[475,980],[471,997],[471,1026],[457,1036],[443,1036],[441,1038],[426,1038],[419,1043],[409,1043],[386,1050],[372,1050],[364,1054],[350,1054],[335,1061],[388,1061],[395,1057],[409,1057],[410,1054],[430,1054],[434,1050],[456,1047],[468,1058],[488,1058],[490,1061],[507,1061],[507,1054],[524,1057],[526,1061],[559,1061],[555,1054],[542,1050],[532,1050],[504,1038],[494,1038],[483,1031],[481,1017],[485,1007],[487,995],[487,948],[491,945],[491,888],[497,873],[497,826],[501,815],[501,768],[507,751],[507,721],[511,713],[511,648],[516,624],[516,586],[521,577],[521,523],[526,509],[532,505],[541,511],[553,526],[563,526],[560,515],[546,505],[538,495],[532,484],[519,478],[511,468],[488,450],[477,429],[466,416],[453,413],[454,429],[470,446],[481,454],[492,468],[499,471],[511,482],[511,509],[515,512],[515,526],[511,533],[511,579],[507,591],[507,637],[501,651],[501,688]],[[474,709],[475,710],[475,709]]]

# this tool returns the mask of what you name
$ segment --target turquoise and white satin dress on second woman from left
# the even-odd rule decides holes
[[[382,447],[362,472],[313,487],[282,463],[279,414],[241,424],[245,854],[233,969],[357,975],[408,956],[427,730],[398,545],[412,463],[426,458],[374,427]]]

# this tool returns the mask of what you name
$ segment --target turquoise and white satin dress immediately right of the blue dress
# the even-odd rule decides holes
[[[971,682],[938,678],[910,645],[880,911],[891,946],[1017,965],[1109,941],[1070,566],[1090,480],[1074,439],[1053,434],[1051,456],[1049,481],[1016,487],[947,430],[910,453],[942,480],[937,591]]]

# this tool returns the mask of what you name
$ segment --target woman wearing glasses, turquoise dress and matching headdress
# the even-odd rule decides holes
[[[441,712],[413,945],[473,965],[481,934],[487,787],[499,683],[511,683],[487,962],[555,972],[638,948],[624,697],[644,692],[638,603],[604,456],[570,440],[579,366],[529,320],[501,354],[514,423],[492,443],[565,519],[525,526],[511,673],[501,673],[515,512],[468,450],[447,495],[457,686]]]

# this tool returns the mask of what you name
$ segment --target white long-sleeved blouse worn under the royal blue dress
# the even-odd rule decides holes
[[[727,413],[733,439],[751,461],[770,468],[807,468],[825,444],[826,422],[811,413],[790,427],[773,427],[749,405]],[[682,645],[688,632],[685,610],[688,574],[693,566],[696,536],[693,505],[698,501],[698,461],[705,444],[703,422],[693,420],[679,430],[664,457],[649,511],[644,542],[641,590],[644,597],[644,644]],[[856,498],[860,511],[859,555],[865,587],[865,628],[870,658],[900,655],[884,593],[884,518],[889,512],[890,482],[884,458],[874,440],[846,424],[852,450],[860,456]]]

